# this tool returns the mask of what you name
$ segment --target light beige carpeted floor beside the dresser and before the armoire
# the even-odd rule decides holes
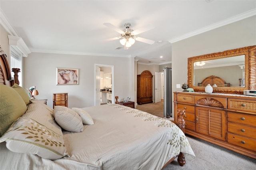
[[[137,105],[138,110],[164,117],[164,102]],[[177,159],[163,170],[256,170],[256,160],[231,150],[186,135],[196,158],[181,167]]]

